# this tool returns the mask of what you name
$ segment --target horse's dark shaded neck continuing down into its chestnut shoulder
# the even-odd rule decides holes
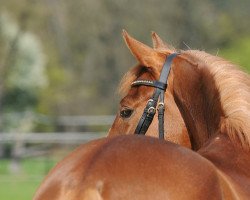
[[[214,164],[230,190],[249,196],[249,152],[233,144],[221,128],[224,114],[213,78],[204,69],[186,63],[174,67],[173,72],[174,98],[187,126],[192,148]]]

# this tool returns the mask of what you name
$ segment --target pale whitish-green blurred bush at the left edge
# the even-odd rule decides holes
[[[1,67],[4,75],[1,80],[1,111],[25,111],[36,105],[39,90],[47,84],[45,58],[39,40],[33,34],[21,30],[6,13],[1,14],[0,24],[2,52],[5,55]],[[7,122],[4,115],[1,129],[11,131],[18,128],[19,131],[29,131],[32,119],[28,119],[16,116]]]

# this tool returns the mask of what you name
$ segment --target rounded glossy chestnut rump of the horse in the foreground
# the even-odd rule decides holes
[[[75,150],[48,175],[40,199],[220,199],[214,166],[189,149],[117,136]]]

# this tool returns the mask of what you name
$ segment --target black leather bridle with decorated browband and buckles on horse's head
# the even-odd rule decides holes
[[[141,119],[135,129],[135,134],[143,134],[143,135],[146,134],[150,124],[154,119],[156,110],[158,110],[159,138],[164,139],[164,110],[165,110],[164,94],[168,86],[167,80],[171,64],[173,62],[173,59],[178,55],[179,53],[172,53],[169,56],[167,56],[166,61],[162,67],[160,79],[158,81],[136,80],[131,84],[132,87],[144,85],[155,88],[154,93],[152,97],[148,100],[147,105],[141,116]]]

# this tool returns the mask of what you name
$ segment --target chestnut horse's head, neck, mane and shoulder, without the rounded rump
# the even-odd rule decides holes
[[[153,89],[143,85],[131,87],[131,83],[136,80],[158,80],[165,57],[175,52],[157,34],[153,33],[152,38],[153,49],[124,32],[127,46],[139,64],[121,82],[123,98],[110,136],[134,133]],[[187,146],[183,140],[176,139],[178,135],[170,128],[171,124],[177,126],[177,131],[182,127],[176,125],[175,118],[172,118],[172,107],[177,106],[187,127],[191,148],[209,160],[230,181],[235,194],[244,193],[249,198],[249,75],[230,62],[204,51],[181,51],[174,60],[165,99],[165,139]],[[157,118],[146,135],[158,137]]]

